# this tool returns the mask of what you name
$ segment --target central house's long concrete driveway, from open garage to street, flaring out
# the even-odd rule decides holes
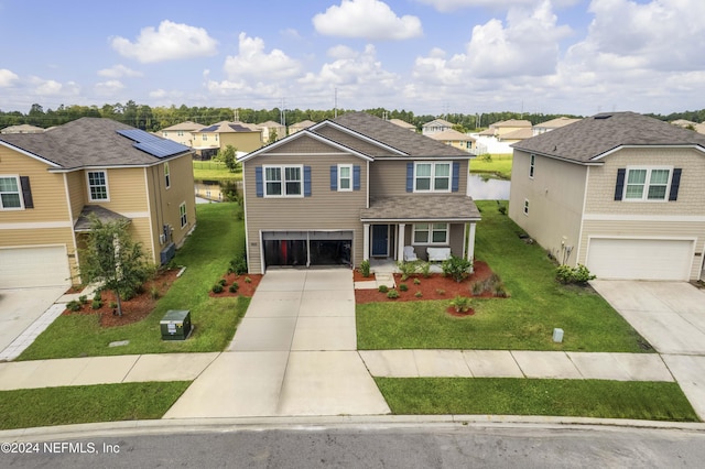
[[[352,273],[270,270],[228,350],[164,418],[389,413],[357,352]]]

